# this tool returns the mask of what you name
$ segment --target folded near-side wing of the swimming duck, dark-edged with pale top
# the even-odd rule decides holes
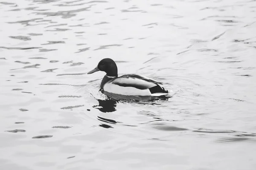
[[[144,77],[138,74],[126,74],[112,81],[108,82],[114,85],[119,85],[122,87],[133,87],[140,90],[145,90],[157,86],[157,84],[162,84],[148,77]]]

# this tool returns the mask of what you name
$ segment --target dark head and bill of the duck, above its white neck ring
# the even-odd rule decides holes
[[[96,71],[105,71],[109,77],[117,77],[117,66],[113,59],[105,58],[102,59],[96,68],[89,71],[87,74],[92,74]]]

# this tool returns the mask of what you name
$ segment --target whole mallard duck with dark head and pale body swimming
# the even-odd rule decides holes
[[[106,75],[103,77],[100,88],[111,94],[119,94],[124,96],[162,96],[168,94],[158,82],[140,74],[125,74],[118,77],[116,62],[111,58],[102,59],[96,68],[87,74],[97,71],[104,71]]]

